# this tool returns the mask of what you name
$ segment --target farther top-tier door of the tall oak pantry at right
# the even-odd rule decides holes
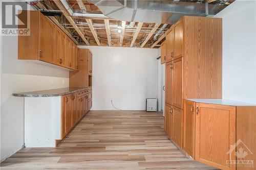
[[[172,61],[174,59],[174,30],[170,28],[169,33],[166,35],[166,61]]]

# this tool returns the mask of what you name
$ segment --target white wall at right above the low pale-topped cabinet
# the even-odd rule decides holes
[[[222,98],[256,104],[256,1],[235,1],[215,17],[223,19]]]

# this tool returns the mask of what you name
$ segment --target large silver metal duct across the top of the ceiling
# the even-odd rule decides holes
[[[184,0],[89,0],[110,18],[132,22],[173,24],[182,16],[215,15],[225,4]]]

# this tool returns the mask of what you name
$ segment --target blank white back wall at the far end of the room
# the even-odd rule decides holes
[[[93,53],[92,110],[145,110],[157,98],[158,51],[151,48],[79,46]]]

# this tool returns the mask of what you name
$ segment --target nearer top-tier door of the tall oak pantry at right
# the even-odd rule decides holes
[[[184,56],[183,40],[184,19],[180,19],[174,26],[174,59]]]

